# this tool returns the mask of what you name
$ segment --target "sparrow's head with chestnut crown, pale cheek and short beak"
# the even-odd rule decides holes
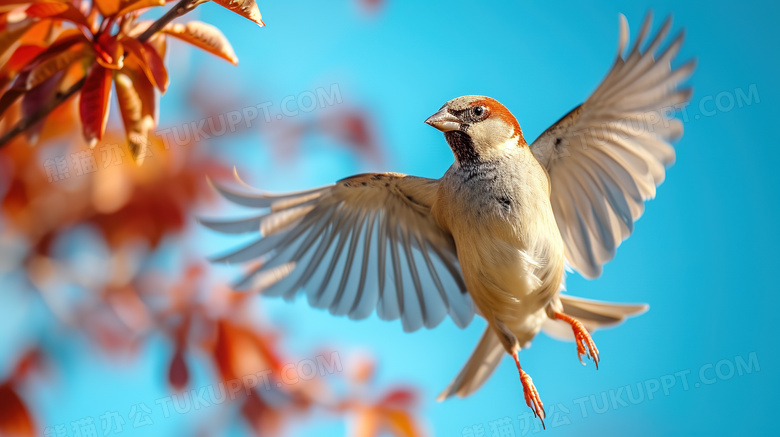
[[[514,115],[490,97],[452,99],[425,122],[444,132],[461,165],[490,161],[503,155],[507,148],[526,146]]]

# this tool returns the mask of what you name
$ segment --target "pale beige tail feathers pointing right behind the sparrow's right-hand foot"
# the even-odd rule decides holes
[[[591,332],[615,326],[628,317],[644,313],[649,308],[647,304],[600,302],[564,294],[559,297],[563,313],[582,322]],[[551,337],[574,340],[571,325],[561,320],[548,319],[542,325],[542,330]]]

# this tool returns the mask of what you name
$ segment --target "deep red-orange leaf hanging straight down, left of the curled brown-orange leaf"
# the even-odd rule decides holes
[[[84,139],[94,147],[103,138],[108,122],[108,102],[111,97],[111,70],[94,64],[81,88],[79,115]]]

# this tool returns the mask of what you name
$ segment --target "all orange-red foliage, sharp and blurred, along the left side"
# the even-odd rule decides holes
[[[215,1],[262,25],[254,0]],[[163,338],[171,345],[169,365],[164,375],[151,378],[166,378],[171,393],[187,391],[199,360],[211,369],[213,384],[241,381],[239,395],[214,408],[226,414],[238,408],[256,435],[278,435],[302,414],[322,412],[348,417],[355,436],[421,435],[413,413],[416,392],[378,391],[370,358],[344,363],[347,371],[327,378],[270,388],[246,382],[245,376],[260,371],[279,378],[283,366],[296,359],[284,352],[290,339],[264,324],[247,302],[254,295],[221,285],[191,255],[195,242],[187,233],[188,218],[211,200],[205,176],[220,179],[229,169],[207,147],[167,148],[154,135],[159,94],[169,81],[167,37],[233,64],[237,58],[217,28],[171,22],[200,0],[181,1],[156,21],[140,20],[148,8],[164,3],[0,3],[2,267],[21,272],[22,292],[35,294],[51,314],[40,341],[18,351],[10,371],[0,376],[0,435],[45,433],[32,407],[32,387],[38,386],[27,382],[58,366],[47,333],[67,340],[59,347],[76,348],[86,338],[95,353],[127,361],[149,341]],[[107,123],[112,87],[123,132]],[[78,99],[69,99],[76,93]],[[317,131],[369,159],[380,156],[364,111],[279,126],[276,138],[288,154],[296,153],[304,133]],[[85,241],[85,229],[97,243]],[[63,249],[74,239],[76,249]],[[183,259],[180,267],[161,265],[168,246]],[[89,255],[96,261],[85,267],[84,252],[95,247],[97,253]],[[69,292],[73,289],[79,293]],[[227,431],[205,428],[215,435]]]

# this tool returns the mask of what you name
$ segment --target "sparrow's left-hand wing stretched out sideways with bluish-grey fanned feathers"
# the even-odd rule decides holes
[[[250,218],[201,220],[223,233],[257,233],[249,245],[214,261],[257,260],[237,289],[292,299],[353,319],[376,308],[405,331],[432,328],[449,314],[466,326],[474,305],[452,236],[431,216],[438,181],[398,173],[352,176],[284,195],[215,186],[228,200],[265,211]]]

